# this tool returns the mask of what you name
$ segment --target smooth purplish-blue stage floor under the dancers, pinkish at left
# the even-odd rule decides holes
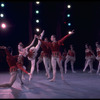
[[[9,73],[0,73],[0,84],[9,78]],[[17,77],[11,88],[0,88],[0,99],[100,99],[100,75],[96,73],[68,72],[64,74],[65,80],[61,80],[57,71],[55,82],[50,82],[44,71],[34,72],[30,82],[28,75],[25,78],[23,86]]]

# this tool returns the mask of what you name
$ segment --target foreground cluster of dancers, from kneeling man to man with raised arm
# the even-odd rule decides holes
[[[61,60],[62,56],[60,52],[60,46],[63,44],[64,40],[68,38],[70,35],[72,35],[73,33],[74,33],[74,30],[70,31],[67,35],[65,35],[59,41],[56,40],[55,35],[51,35],[51,38],[50,38],[51,42],[49,42],[47,38],[45,38],[44,41],[42,40],[44,36],[44,30],[43,30],[39,36],[36,34],[34,35],[34,38],[29,46],[24,47],[23,43],[20,42],[18,44],[19,54],[15,56],[12,55],[12,48],[6,47],[6,46],[0,46],[0,49],[5,50],[6,61],[10,67],[10,75],[11,75],[9,82],[0,84],[0,87],[11,87],[17,78],[18,72],[20,73],[19,78],[21,80],[21,84],[23,84],[22,72],[29,75],[29,81],[30,81],[33,77],[36,57],[37,57],[40,47],[42,48],[42,51],[43,51],[42,56],[43,56],[43,62],[44,62],[47,78],[50,79],[50,69],[51,69],[50,66],[52,66],[53,78],[50,79],[50,81],[55,81],[56,63],[58,63],[60,72],[61,72],[61,78],[63,80],[64,77],[63,77],[63,66],[62,66],[62,60]],[[36,46],[33,46],[36,39],[38,39],[38,43]],[[26,68],[24,66],[24,57],[27,57],[28,60],[31,62],[30,72],[26,71]]]

